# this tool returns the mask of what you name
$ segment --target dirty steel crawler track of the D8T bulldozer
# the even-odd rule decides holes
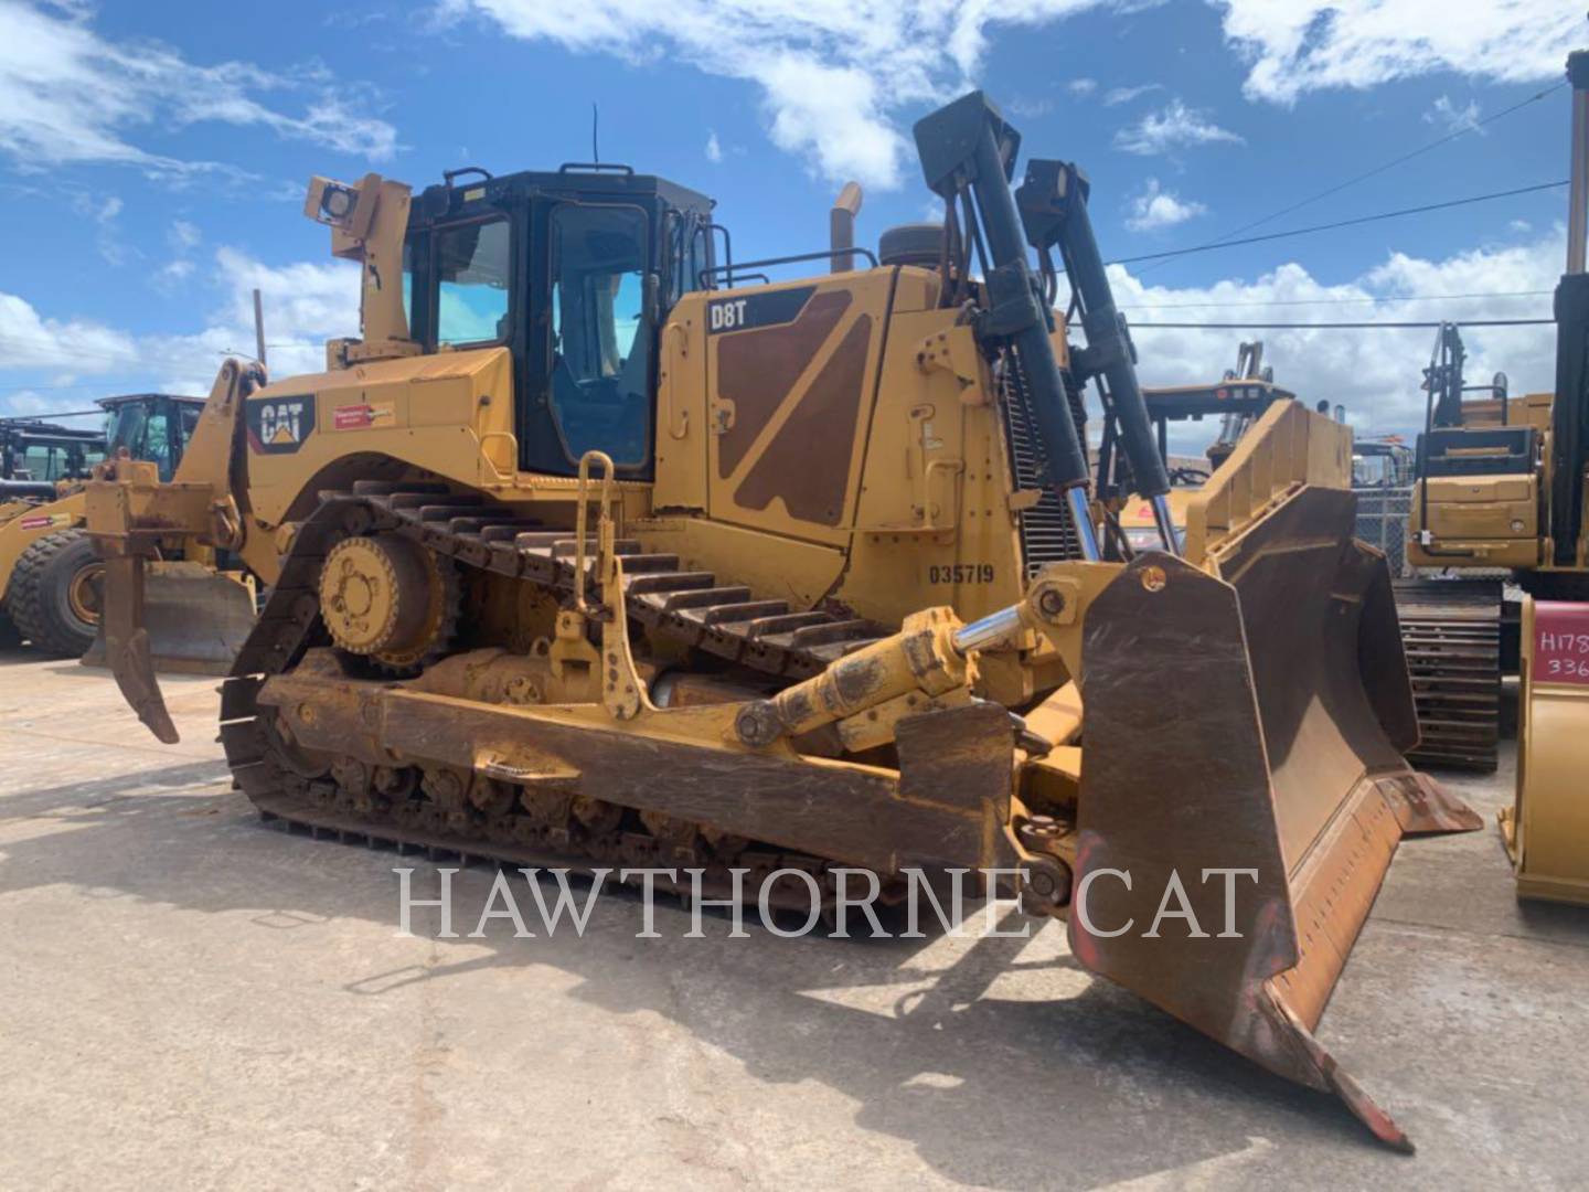
[[[397,532],[462,567],[532,583],[559,598],[575,586],[577,539],[528,523],[478,494],[442,485],[359,482],[351,493],[323,493],[292,542],[281,577],[259,623],[221,687],[221,744],[237,787],[261,815],[288,830],[343,842],[423,852],[432,858],[507,866],[561,865],[594,874],[610,866],[701,869],[701,892],[734,892],[734,869],[758,890],[775,871],[818,880],[831,906],[829,861],[721,838],[709,825],[664,825],[651,831],[615,804],[569,795],[551,814],[531,814],[515,787],[475,776],[469,796],[426,796],[418,768],[331,766],[296,752],[259,714],[264,682],[296,666],[307,650],[329,645],[319,625],[319,569],[335,542],[370,532]],[[620,539],[631,618],[690,645],[769,675],[799,679],[831,660],[890,633],[887,626],[828,612],[790,612],[782,601],[752,599],[744,585],[720,583],[710,572],[682,571],[674,555],[642,553]],[[591,550],[594,555],[594,550]],[[629,572],[629,567],[634,567]],[[334,772],[337,771],[337,772]],[[837,865],[837,863],[833,863]],[[890,890],[887,876],[885,900]],[[639,880],[639,879],[636,879]],[[801,882],[801,885],[804,885]],[[691,893],[688,882],[655,879],[655,888]],[[772,906],[806,909],[809,892],[774,884]]]

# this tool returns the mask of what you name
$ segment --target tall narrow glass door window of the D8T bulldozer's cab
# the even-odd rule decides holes
[[[570,462],[601,450],[632,467],[648,455],[645,229],[634,207],[551,213],[551,410]]]

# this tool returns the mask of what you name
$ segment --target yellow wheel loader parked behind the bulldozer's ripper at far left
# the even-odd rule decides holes
[[[46,466],[57,442],[73,466],[54,480],[13,482],[17,488],[0,505],[0,637],[67,658],[95,645],[103,575],[84,529],[86,477],[78,469],[99,466],[106,451],[126,451],[168,480],[203,408],[199,399],[156,393],[105,397],[99,405],[103,432],[29,435],[25,447],[49,448]],[[194,542],[188,558],[162,559],[154,569],[157,604],[173,613],[151,626],[162,669],[224,674],[253,625],[253,582],[218,572],[211,553]]]

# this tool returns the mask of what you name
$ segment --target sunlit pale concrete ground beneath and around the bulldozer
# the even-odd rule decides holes
[[[0,656],[0,1187],[1589,1181],[1589,912],[1519,908],[1494,830],[1401,849],[1319,1031],[1408,1159],[1055,927],[636,939],[615,895],[583,938],[400,936],[394,866],[435,868],[262,826],[213,688],[167,682],[167,749],[103,672]],[[1510,769],[1451,785],[1492,817]]]

